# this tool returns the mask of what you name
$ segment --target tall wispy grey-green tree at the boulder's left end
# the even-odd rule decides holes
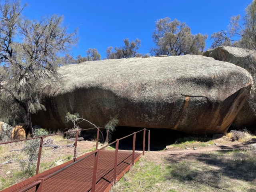
[[[77,38],[76,30],[66,32],[62,16],[28,20],[22,16],[25,7],[19,0],[0,6],[0,120],[14,123],[22,116],[33,133],[31,114],[46,110],[42,84],[60,80],[60,56]]]

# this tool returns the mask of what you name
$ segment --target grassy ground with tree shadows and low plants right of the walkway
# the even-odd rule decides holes
[[[255,192],[256,137],[245,132],[232,142],[232,133],[209,142],[180,138],[169,150],[148,152],[111,191]]]

